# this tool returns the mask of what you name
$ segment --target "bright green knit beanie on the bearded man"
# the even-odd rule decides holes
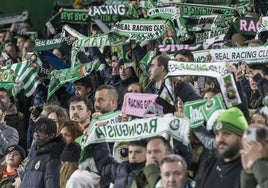
[[[231,107],[218,117],[214,125],[214,132],[228,130],[238,136],[242,136],[247,128],[248,122],[243,112],[237,107]]]

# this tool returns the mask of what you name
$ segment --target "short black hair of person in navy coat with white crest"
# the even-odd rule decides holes
[[[56,123],[47,117],[41,117],[34,124],[34,131],[41,130],[42,133],[47,135],[56,136],[57,125]]]

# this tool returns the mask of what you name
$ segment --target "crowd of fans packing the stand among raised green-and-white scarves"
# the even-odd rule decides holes
[[[158,45],[162,43],[158,39],[130,39],[128,50],[131,55],[122,49],[122,45],[112,44],[81,46],[74,54],[72,48],[81,35],[98,37],[106,34],[107,26],[96,18],[96,23],[68,23],[69,29],[64,30],[66,25],[55,24],[55,17],[63,11],[62,8],[87,10],[105,5],[105,2],[76,0],[70,7],[60,7],[62,2],[55,1],[54,14],[38,35],[29,35],[33,32],[30,20],[23,24],[2,25],[0,30],[1,187],[268,187],[268,57],[262,63],[247,63],[243,58],[227,63],[226,71],[234,78],[240,103],[225,105],[218,110],[211,129],[208,121],[194,125],[185,110],[189,102],[209,104],[215,97],[225,100],[216,78],[198,74],[169,77],[169,62],[193,63],[196,61],[194,50],[160,52]],[[268,2],[264,2],[255,1],[248,5],[243,16],[265,16]],[[136,8],[137,20],[147,19],[146,8],[142,8],[140,1],[128,3]],[[169,6],[175,7],[176,2]],[[220,12],[219,9],[213,14]],[[238,14],[239,11],[234,13],[234,19],[238,19]],[[52,22],[55,25],[51,25]],[[262,35],[257,32],[254,36],[243,35],[234,32],[231,25],[229,27],[220,41],[224,43],[223,48],[253,48],[267,43],[265,31]],[[70,32],[72,29],[74,32]],[[179,27],[175,29],[175,32],[179,31]],[[48,50],[40,50],[36,45],[38,41],[61,37],[66,37],[72,45],[55,45]],[[194,43],[195,39],[189,37],[180,44]],[[151,51],[154,52],[152,57],[145,58]],[[75,58],[79,63],[74,62]],[[208,55],[207,61],[209,59]],[[63,84],[58,82],[51,92],[54,82],[51,75],[55,72],[76,67],[79,67],[78,73],[83,72],[81,65],[88,66],[96,60],[100,66],[87,70],[82,76],[78,74],[68,80],[71,71],[67,71]],[[143,61],[147,61],[147,66],[140,66]],[[36,87],[30,95],[25,92],[29,83],[23,83],[17,90],[14,88],[18,88],[22,80],[4,80],[5,71],[9,71],[8,76],[14,72],[10,66],[20,62],[39,71],[38,81],[34,81]],[[168,81],[171,88],[167,88]],[[163,97],[163,93],[168,93],[170,100]],[[93,126],[109,125],[108,120],[108,123],[101,122],[106,116],[116,116],[119,112],[117,123],[147,118],[123,111],[128,94],[155,94],[156,106],[153,107],[160,111],[151,111],[149,115],[160,118],[171,114],[176,119],[186,120],[189,142],[161,133],[135,140],[126,137],[124,141],[97,142],[96,139],[96,143],[85,144],[95,131]]]

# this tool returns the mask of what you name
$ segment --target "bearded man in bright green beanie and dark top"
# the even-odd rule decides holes
[[[241,140],[247,127],[247,120],[237,107],[227,109],[218,117],[213,127],[216,152],[208,159],[196,188],[240,188]]]

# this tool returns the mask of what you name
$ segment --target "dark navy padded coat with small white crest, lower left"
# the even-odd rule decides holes
[[[64,146],[63,137],[58,136],[40,150],[35,148],[22,174],[21,187],[59,187],[60,155]]]

